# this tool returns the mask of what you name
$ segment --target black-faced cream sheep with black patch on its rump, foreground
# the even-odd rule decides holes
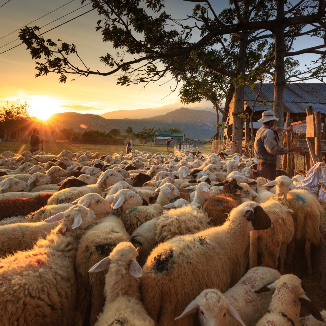
[[[189,318],[173,319],[207,287],[225,291],[233,286],[244,275],[249,232],[270,226],[259,204],[245,202],[231,211],[223,226],[159,244],[147,258],[141,279],[150,317],[159,325],[193,325]]]

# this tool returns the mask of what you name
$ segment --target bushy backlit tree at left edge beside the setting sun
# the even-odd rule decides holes
[[[19,140],[24,138],[24,127],[29,124],[31,119],[28,108],[27,102],[20,104],[19,100],[11,104],[7,102],[0,108],[0,131],[6,139],[14,132],[17,132]]]

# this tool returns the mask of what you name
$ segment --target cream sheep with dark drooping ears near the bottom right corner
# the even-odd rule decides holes
[[[304,305],[317,320],[323,320],[319,311],[315,309],[305,295],[299,277],[292,274],[282,275],[272,284],[267,284],[255,292],[261,293],[271,290],[275,290],[275,292],[269,305],[269,311],[259,319],[256,326],[297,326],[301,305]]]

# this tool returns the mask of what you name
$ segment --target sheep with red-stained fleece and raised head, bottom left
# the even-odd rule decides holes
[[[91,210],[75,205],[46,220],[63,222],[32,250],[0,260],[2,325],[74,324],[78,238],[94,218]]]

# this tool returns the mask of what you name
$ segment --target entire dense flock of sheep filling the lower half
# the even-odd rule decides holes
[[[256,166],[230,150],[2,153],[0,325],[326,325],[284,274],[300,242],[312,273],[324,209],[304,177]]]

